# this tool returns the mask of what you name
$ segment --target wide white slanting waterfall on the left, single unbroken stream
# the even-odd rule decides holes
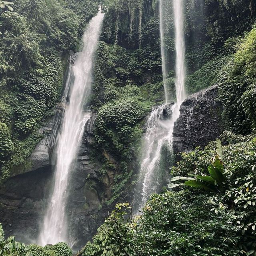
[[[78,53],[76,62],[72,66],[73,83],[70,85],[57,139],[54,188],[39,236],[41,245],[68,242],[65,214],[68,178],[81,143],[84,126],[91,116],[90,111],[86,110],[86,103],[91,90],[93,60],[103,16],[104,14],[98,13],[88,24],[83,35],[82,52]]]

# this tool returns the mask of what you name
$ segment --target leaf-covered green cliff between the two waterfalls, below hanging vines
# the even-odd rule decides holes
[[[113,184],[112,196],[106,204],[112,204],[126,190],[134,173],[135,155],[140,155],[144,118],[151,111],[155,99],[163,100],[158,53],[150,46],[128,50],[106,42],[99,43],[90,98],[92,108],[97,111],[95,147],[103,148],[114,157],[118,163],[115,173],[122,176],[122,180]],[[145,94],[145,86],[150,88],[154,85],[152,93]],[[108,167],[104,170],[107,171]],[[98,176],[102,179],[101,172]]]

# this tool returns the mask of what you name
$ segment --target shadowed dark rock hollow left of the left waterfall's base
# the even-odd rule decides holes
[[[36,242],[38,219],[43,216],[51,179],[48,166],[14,176],[0,188],[0,222],[6,236],[14,235],[25,243]]]

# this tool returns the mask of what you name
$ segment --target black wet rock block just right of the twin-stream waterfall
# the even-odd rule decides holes
[[[218,86],[190,95],[180,106],[180,117],[174,124],[174,153],[189,152],[216,140],[224,131],[222,106],[217,101]],[[179,156],[177,156],[179,160]]]

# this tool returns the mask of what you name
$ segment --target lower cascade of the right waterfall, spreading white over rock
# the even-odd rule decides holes
[[[146,122],[146,134],[142,142],[140,174],[136,185],[134,208],[138,211],[146,204],[150,194],[161,188],[161,152],[164,145],[172,153],[172,131],[179,110],[177,104],[153,107]]]

